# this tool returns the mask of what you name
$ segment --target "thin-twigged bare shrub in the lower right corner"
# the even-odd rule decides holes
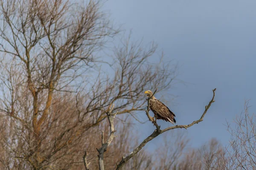
[[[229,144],[222,150],[215,150],[212,156],[204,155],[204,164],[217,170],[256,169],[256,117],[249,114],[249,101],[244,103],[244,111],[236,116],[233,123],[227,122],[230,133]]]

